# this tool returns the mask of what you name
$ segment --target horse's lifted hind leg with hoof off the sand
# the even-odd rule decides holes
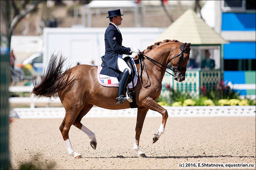
[[[95,134],[81,123],[81,120],[84,117],[84,115],[86,115],[92,107],[93,105],[85,103],[84,108],[80,111],[73,125],[80,129],[81,131],[83,131],[91,139],[90,145],[93,149],[96,149],[97,141]]]

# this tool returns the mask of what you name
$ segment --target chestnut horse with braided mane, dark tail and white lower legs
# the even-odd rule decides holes
[[[153,143],[159,140],[164,133],[168,113],[156,100],[161,94],[162,80],[169,63],[175,73],[174,79],[178,82],[185,80],[186,66],[189,60],[191,43],[182,43],[177,40],[164,40],[147,47],[141,55],[136,55],[134,61],[138,70],[138,82],[134,87],[135,99],[138,106],[137,123],[135,127],[135,140],[133,150],[138,157],[146,157],[139,148],[139,138],[147,111],[157,111],[162,115],[161,125],[156,134],[152,135]],[[143,62],[138,62],[143,58]],[[75,152],[69,140],[69,130],[72,125],[83,131],[90,139],[90,145],[96,149],[97,140],[95,133],[81,124],[81,119],[95,105],[106,109],[127,109],[129,102],[116,105],[118,88],[105,87],[97,81],[98,66],[80,64],[63,71],[65,58],[58,54],[52,54],[46,72],[41,83],[34,86],[31,94],[35,96],[53,97],[56,93],[65,108],[65,117],[59,126],[68,154],[74,158],[82,158]],[[144,63],[142,66],[141,63]],[[145,68],[144,68],[145,67]],[[143,69],[144,68],[144,69]],[[146,71],[143,71],[147,68]],[[143,84],[143,80],[148,80]],[[152,80],[152,81],[151,81]]]

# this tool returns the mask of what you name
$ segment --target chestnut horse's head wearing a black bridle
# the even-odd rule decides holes
[[[177,41],[175,44],[176,49],[170,53],[169,59],[172,64],[172,70],[174,72],[174,80],[182,82],[185,80],[186,76],[191,43],[187,44]]]

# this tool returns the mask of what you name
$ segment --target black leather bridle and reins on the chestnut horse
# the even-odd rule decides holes
[[[181,44],[182,45],[182,44]],[[187,53],[187,54],[190,54],[189,52],[185,51],[185,48],[186,48],[186,45],[187,43],[184,43],[183,47],[182,47],[182,50],[179,54],[177,54],[176,56],[174,56],[172,59],[175,59],[176,57],[179,57],[179,61],[178,61],[178,65],[177,67],[167,67],[157,61],[155,61],[154,59],[151,59],[150,57],[144,55],[143,53],[139,52],[139,54],[143,55],[146,59],[148,59],[149,61],[151,61],[153,64],[155,64],[157,67],[159,67],[160,69],[162,69],[159,65],[157,64],[160,64],[161,66],[163,67],[166,67],[167,69],[169,70],[172,70],[174,72],[174,75],[169,73],[168,71],[164,70],[166,73],[172,75],[174,77],[174,79],[176,79],[178,77],[178,75],[181,73],[181,71],[187,71],[187,68],[186,67],[182,67],[182,61],[183,61],[183,56],[184,56],[184,53]],[[148,75],[148,72],[147,72],[147,68],[146,68],[146,65],[145,65],[145,62],[144,62],[144,57],[139,57],[139,68],[140,68],[140,75],[139,75],[139,72],[137,71],[137,76],[140,77],[141,79],[141,83],[142,85],[146,85],[148,83],[148,81],[150,81],[150,78],[149,78],[149,75]],[[172,59],[170,60],[170,62],[172,61]],[[156,64],[157,63],[157,64]],[[142,71],[143,71],[143,67],[145,67],[145,71],[146,71],[146,74],[147,74],[147,77],[148,77],[148,81],[143,84],[143,81],[142,81]],[[138,69],[139,70],[139,69]]]

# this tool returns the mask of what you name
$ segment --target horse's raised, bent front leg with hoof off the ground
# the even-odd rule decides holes
[[[160,106],[151,97],[148,97],[147,99],[145,99],[142,103],[142,106],[144,106],[150,110],[157,111],[157,112],[161,113],[161,115],[162,115],[162,122],[158,129],[158,132],[156,134],[152,135],[153,143],[155,143],[160,138],[160,136],[164,133],[166,121],[168,118],[168,113],[167,113],[166,109],[164,109],[162,106]]]

